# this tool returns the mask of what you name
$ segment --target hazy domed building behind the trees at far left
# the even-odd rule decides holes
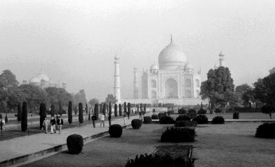
[[[32,78],[30,78],[29,83],[32,85],[39,86],[42,89],[44,89],[46,87],[62,87],[64,89],[66,89],[65,82],[63,82],[61,84],[56,83],[56,82],[52,81],[51,78],[49,76],[47,76],[47,74],[45,74],[45,72],[43,72],[43,71],[41,71],[39,74],[36,74]],[[23,84],[28,84],[28,81],[23,80]]]

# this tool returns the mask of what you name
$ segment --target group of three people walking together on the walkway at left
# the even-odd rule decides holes
[[[47,120],[47,117],[45,117],[45,120],[43,122],[42,130],[45,130],[45,133],[47,133],[47,127],[49,126],[49,120]],[[63,126],[63,119],[61,118],[61,115],[57,116],[57,120],[52,116],[50,120],[50,126],[51,126],[51,134],[56,133],[56,131],[59,131],[59,134],[61,134],[62,126]]]

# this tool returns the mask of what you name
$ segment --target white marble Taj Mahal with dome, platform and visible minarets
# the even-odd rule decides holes
[[[224,65],[224,55],[219,55],[220,66]],[[170,43],[162,49],[158,63],[143,71],[141,77],[141,97],[139,97],[139,79],[137,68],[133,69],[133,98],[120,98],[120,57],[115,56],[114,95],[118,103],[133,104],[173,103],[177,105],[207,104],[201,100],[201,70],[195,70],[188,62],[184,52],[175,45],[171,36]]]

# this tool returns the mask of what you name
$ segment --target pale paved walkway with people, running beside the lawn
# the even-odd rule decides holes
[[[131,116],[130,120],[126,118],[126,124],[131,124],[131,120],[139,118],[139,115]],[[112,124],[123,125],[123,118],[112,120]],[[94,128],[91,124],[79,126],[72,129],[64,129],[61,134],[45,134],[39,133],[36,135],[29,135],[24,137],[16,137],[12,140],[4,140],[0,142],[0,162],[23,155],[29,155],[38,151],[44,151],[48,148],[53,148],[61,144],[66,144],[66,139],[69,135],[77,133],[83,138],[96,135],[104,131],[108,131],[109,123],[105,121],[105,127],[100,127],[100,123],[96,124]]]

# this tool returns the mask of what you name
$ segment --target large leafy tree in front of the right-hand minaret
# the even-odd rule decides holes
[[[207,74],[207,80],[201,83],[201,97],[208,98],[212,109],[216,105],[221,105],[223,112],[228,102],[234,102],[234,84],[228,67],[219,67],[210,69]]]

